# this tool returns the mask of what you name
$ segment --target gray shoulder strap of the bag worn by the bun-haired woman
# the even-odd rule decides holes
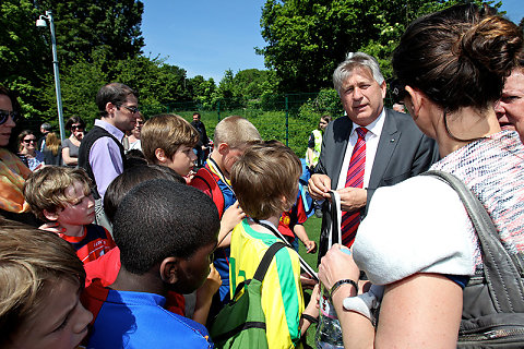
[[[450,184],[467,210],[483,250],[484,275],[493,305],[499,313],[524,312],[524,286],[519,268],[500,242],[497,228],[483,203],[455,176],[442,171],[427,171]]]

